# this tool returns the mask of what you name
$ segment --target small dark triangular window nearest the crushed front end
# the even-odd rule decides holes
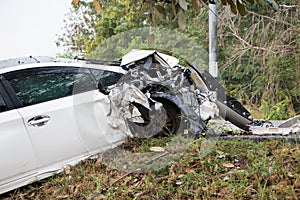
[[[106,70],[92,69],[91,71],[95,76],[96,80],[98,82],[101,81],[104,87],[116,84],[119,81],[119,79],[123,76],[123,74],[121,73]]]

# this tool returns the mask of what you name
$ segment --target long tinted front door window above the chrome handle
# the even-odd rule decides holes
[[[89,71],[72,67],[40,67],[4,75],[23,106],[96,89]]]

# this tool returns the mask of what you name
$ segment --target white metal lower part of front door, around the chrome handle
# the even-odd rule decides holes
[[[73,97],[64,97],[18,109],[32,140],[37,167],[41,168],[86,152],[78,138]],[[29,124],[37,116],[48,116],[41,126]]]

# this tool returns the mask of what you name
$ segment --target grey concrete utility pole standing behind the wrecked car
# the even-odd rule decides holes
[[[217,62],[217,3],[209,1],[209,73],[218,77]]]

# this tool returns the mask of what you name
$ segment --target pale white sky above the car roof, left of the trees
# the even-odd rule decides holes
[[[72,0],[0,0],[0,60],[56,56]]]

